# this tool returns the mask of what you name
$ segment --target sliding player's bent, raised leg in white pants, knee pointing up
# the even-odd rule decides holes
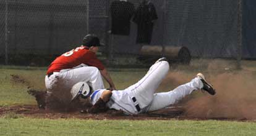
[[[142,79],[140,79],[139,82],[125,90],[129,91],[136,97],[140,108],[144,108],[153,100],[155,90],[158,88],[168,71],[169,63],[165,60],[158,61],[150,67],[148,73]]]

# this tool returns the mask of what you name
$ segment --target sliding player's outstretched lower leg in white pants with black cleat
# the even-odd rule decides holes
[[[204,89],[209,94],[214,95],[215,90],[213,87],[211,86],[210,88],[206,89],[206,84],[203,81],[205,81],[205,79],[202,79],[197,75],[197,77],[192,79],[190,82],[187,82],[186,84],[183,84],[172,91],[154,94],[153,102],[151,103],[148,111],[160,110],[166,106],[173,105],[174,103],[177,103],[179,100],[184,98],[186,95],[189,95],[194,90],[198,89]]]

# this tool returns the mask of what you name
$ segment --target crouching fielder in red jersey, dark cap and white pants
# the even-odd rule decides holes
[[[59,98],[63,103],[70,99],[70,89],[77,82],[85,81],[93,90],[103,89],[103,78],[109,84],[109,89],[116,87],[105,66],[96,57],[100,39],[95,34],[88,34],[83,38],[83,45],[57,57],[45,76],[48,94]],[[47,106],[47,105],[46,105]]]

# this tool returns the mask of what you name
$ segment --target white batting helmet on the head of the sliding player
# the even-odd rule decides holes
[[[72,99],[74,100],[79,95],[82,95],[83,98],[87,98],[90,96],[90,87],[88,86],[87,82],[77,82],[77,84],[74,84],[70,91],[72,95]]]

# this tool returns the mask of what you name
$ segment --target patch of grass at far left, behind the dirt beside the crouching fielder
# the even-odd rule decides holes
[[[43,73],[43,70],[0,69],[0,106],[35,103],[26,91],[28,86],[43,89]],[[28,82],[14,82],[11,74]]]

